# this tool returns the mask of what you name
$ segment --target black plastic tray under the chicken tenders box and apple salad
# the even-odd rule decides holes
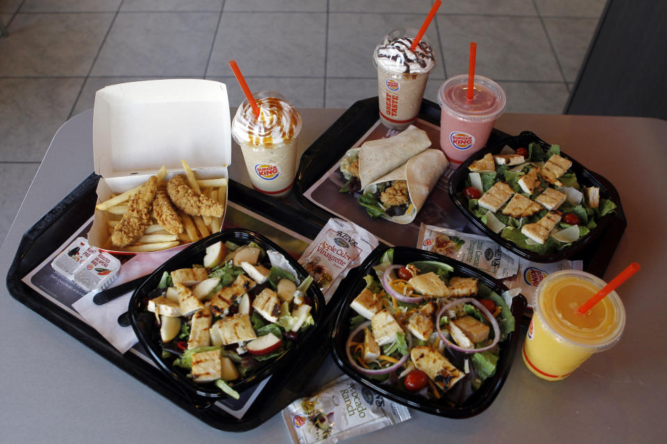
[[[304,381],[315,375],[329,352],[327,348],[321,347],[321,344],[327,341],[327,334],[334,320],[333,314],[336,313],[337,305],[334,299],[327,305],[327,318],[324,319],[324,328],[320,331],[320,340],[315,341],[313,338],[312,352],[303,353],[293,362],[294,365],[285,371],[285,375],[270,379],[245,416],[236,419],[217,407],[206,410],[195,408],[158,368],[133,353],[120,354],[90,325],[61,309],[22,282],[22,278],[28,272],[41,264],[56,248],[67,241],[74,230],[90,218],[92,208],[97,201],[95,190],[98,180],[99,176],[91,173],[24,234],[7,274],[7,288],[13,298],[74,336],[111,364],[216,429],[227,432],[254,429],[299,398],[303,394]],[[279,200],[263,196],[233,180],[229,181],[229,200],[311,239],[317,236],[322,228],[317,220],[308,215],[298,213]]]

